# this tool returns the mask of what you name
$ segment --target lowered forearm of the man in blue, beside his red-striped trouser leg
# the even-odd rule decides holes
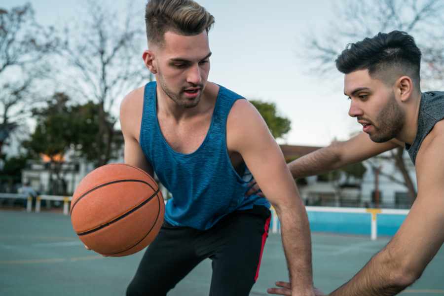
[[[281,221],[282,243],[287,259],[290,281],[295,295],[311,295],[313,274],[311,263],[311,237],[305,209],[300,206],[277,210]]]

